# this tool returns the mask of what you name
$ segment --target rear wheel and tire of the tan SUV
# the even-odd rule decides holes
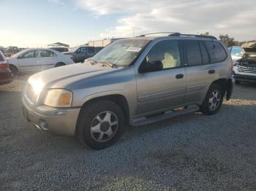
[[[200,109],[203,114],[216,114],[222,106],[224,90],[217,84],[212,84],[206,94]]]

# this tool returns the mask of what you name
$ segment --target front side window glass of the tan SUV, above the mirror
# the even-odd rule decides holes
[[[165,40],[155,44],[146,56],[146,63],[162,63],[162,69],[172,69],[181,66],[178,40]]]

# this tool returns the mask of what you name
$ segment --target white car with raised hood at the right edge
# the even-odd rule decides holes
[[[234,63],[233,75],[236,84],[256,82],[256,42],[242,45],[244,55]]]

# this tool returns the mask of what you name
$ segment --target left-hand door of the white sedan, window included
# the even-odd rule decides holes
[[[23,53],[17,58],[19,71],[39,71],[39,52],[38,50],[30,50],[29,52]]]

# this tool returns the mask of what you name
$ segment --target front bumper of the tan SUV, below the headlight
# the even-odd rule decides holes
[[[31,108],[23,96],[23,115],[37,128],[60,136],[74,136],[80,108],[56,109],[50,106]]]

